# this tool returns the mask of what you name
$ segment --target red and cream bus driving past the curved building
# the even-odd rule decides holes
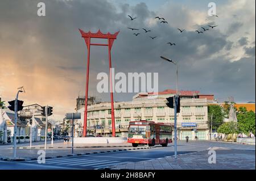
[[[127,142],[138,145],[167,146],[172,142],[172,127],[170,124],[154,121],[130,121]]]

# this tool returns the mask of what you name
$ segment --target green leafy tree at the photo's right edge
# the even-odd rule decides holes
[[[255,134],[255,113],[253,111],[247,111],[245,107],[238,108],[237,121],[240,133]]]

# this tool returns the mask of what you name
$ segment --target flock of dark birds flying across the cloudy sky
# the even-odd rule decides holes
[[[129,18],[130,18],[130,20],[134,20],[134,19],[136,19],[137,17],[131,17],[130,15],[128,15],[129,16]],[[215,17],[218,17],[217,15],[213,15],[213,16],[215,16]],[[159,16],[156,16],[155,17],[155,19],[158,19],[159,21],[160,21],[160,23],[163,23],[163,24],[165,24],[165,23],[167,23],[168,24],[168,22],[166,21],[166,19],[164,19],[164,18],[160,18]],[[215,25],[215,26],[210,26],[210,25],[208,25],[208,27],[209,28],[214,28],[214,27],[217,27],[217,25]],[[197,32],[198,34],[200,34],[200,33],[204,33],[205,31],[208,31],[209,30],[209,28],[205,28],[205,27],[201,27],[203,30],[196,30],[195,32]],[[137,29],[137,28],[130,28],[130,27],[128,27],[128,29],[130,29],[130,30],[132,30],[132,31],[139,31],[139,29]],[[145,28],[142,28],[142,30],[144,30],[145,31],[145,33],[147,33],[147,32],[151,32],[151,30],[146,30]],[[185,31],[185,29],[180,29],[180,28],[177,28],[177,30],[179,30],[179,32],[180,33],[182,33],[183,31]],[[138,36],[138,35],[140,35],[141,33],[133,33],[133,35],[135,35],[135,36]],[[155,39],[157,36],[149,36],[152,40],[153,39]],[[175,43],[171,43],[171,42],[168,42],[167,44],[169,44],[169,45],[176,45]]]

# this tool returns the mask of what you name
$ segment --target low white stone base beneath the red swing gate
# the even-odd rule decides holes
[[[127,142],[126,137],[75,137],[75,144],[119,144]]]

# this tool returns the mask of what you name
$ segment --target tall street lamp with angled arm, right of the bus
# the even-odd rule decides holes
[[[175,107],[174,107],[174,154],[175,154],[175,159],[177,158],[177,102],[179,98],[179,75],[178,75],[178,66],[177,63],[173,60],[170,60],[169,58],[160,56],[163,60],[166,60],[168,62],[172,62],[173,64],[176,65],[176,75],[177,75],[177,87],[176,87],[176,96],[175,96]]]

